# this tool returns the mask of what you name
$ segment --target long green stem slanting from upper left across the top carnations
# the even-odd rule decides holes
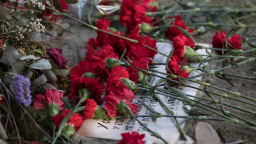
[[[83,21],[81,21],[81,20],[78,20],[78,19],[76,19],[76,18],[70,17],[69,15],[67,15],[67,14],[65,14],[65,13],[61,13],[61,12],[59,12],[59,11],[57,11],[57,10],[53,10],[53,9],[51,9],[50,7],[45,6],[45,8],[46,8],[46,9],[49,9],[49,10],[52,10],[52,11],[55,12],[55,13],[59,13],[59,14],[61,14],[61,15],[64,15],[64,16],[70,18],[70,19],[73,19],[73,20],[77,21],[77,22],[80,22],[80,23],[82,23],[83,25],[85,25],[85,26],[87,26],[87,27],[90,27],[90,28],[92,28],[92,29],[94,29],[94,30],[102,31],[103,33],[120,37],[120,38],[122,38],[122,39],[125,39],[125,40],[127,40],[127,41],[133,42],[133,43],[135,43],[135,44],[138,43],[138,41],[135,40],[135,39],[127,38],[127,37],[124,37],[124,36],[119,36],[119,35],[110,33],[110,32],[108,32],[108,31],[105,31],[105,30],[102,30],[102,29],[98,29],[97,27],[91,26],[91,25],[89,25],[88,23],[85,23],[85,22],[83,22]],[[150,49],[150,50],[153,50],[153,51],[155,51],[155,52],[158,52],[158,53],[164,55],[165,57],[168,57],[168,55],[166,55],[166,54],[164,54],[164,53],[162,53],[162,52],[159,52],[159,51],[153,49],[153,48],[150,47],[150,46],[147,46],[147,45],[145,45],[145,44],[143,44],[143,45],[146,46],[146,47],[147,47],[148,49]]]

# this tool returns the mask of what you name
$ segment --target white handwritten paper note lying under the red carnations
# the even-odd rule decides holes
[[[210,47],[208,44],[202,44],[206,47]],[[157,43],[157,49],[166,55],[169,55],[169,53],[172,50],[172,44],[170,43]],[[205,50],[198,50],[198,53],[201,54],[207,54]],[[161,54],[156,54],[155,56],[156,62],[166,62],[166,57]],[[207,64],[207,63],[205,63]],[[199,62],[193,62],[190,63],[191,67],[198,67]],[[166,72],[165,71],[165,65],[159,65],[158,68],[155,68],[155,70]],[[193,71],[189,76],[194,76],[201,74],[201,71]],[[166,77],[165,75],[155,73],[159,76]],[[158,77],[153,77],[153,84],[158,81]],[[197,77],[196,79],[201,80],[202,77]],[[199,87],[199,84],[195,84],[192,82],[187,82],[188,85],[192,85],[195,87]],[[182,92],[185,94],[190,95],[196,95],[197,90],[192,89],[190,87],[181,87]],[[182,110],[182,102],[175,100],[173,98],[165,98],[163,95],[158,96],[161,98],[161,100],[166,104],[167,107],[169,107],[171,110],[174,111],[175,115],[178,116],[186,116],[185,112]],[[135,98],[131,101],[132,103],[136,104],[138,106],[137,113],[135,115],[150,115],[149,111],[142,105],[139,101],[144,101],[144,97],[148,102],[150,102],[150,107],[154,108],[159,113],[162,113],[163,115],[169,115],[167,111],[159,104],[159,102],[154,99],[153,97],[150,98],[147,93],[143,93],[142,96],[140,93],[135,93]],[[194,98],[191,98],[194,99]],[[186,106],[188,109],[190,107]],[[149,127],[149,129],[157,131],[159,134],[162,135],[163,139],[165,139],[169,143],[175,143],[179,137],[180,133],[177,129],[177,126],[174,122],[174,119],[171,117],[162,117],[157,118],[156,120],[153,120],[151,117],[138,117],[138,119]],[[178,118],[178,121],[183,121],[183,118]],[[184,127],[185,123],[181,126]],[[161,139],[157,139],[149,134],[147,130],[140,125],[137,121],[126,118],[126,119],[112,119],[112,120],[103,120],[103,119],[86,119],[84,121],[84,124],[81,126],[81,128],[78,130],[77,135],[83,135],[85,137],[94,137],[94,138],[103,138],[103,139],[113,139],[113,140],[121,140],[122,136],[121,133],[131,132],[131,131],[137,131],[140,134],[145,134],[145,138],[143,140],[146,140],[146,143],[163,143]]]

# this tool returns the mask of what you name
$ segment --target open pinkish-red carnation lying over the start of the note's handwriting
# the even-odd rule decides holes
[[[123,89],[113,89],[110,91],[108,95],[106,95],[103,100],[106,101],[105,105],[103,106],[107,112],[108,116],[110,118],[113,118],[114,116],[117,116],[117,111],[121,109],[117,109],[116,105],[119,105],[121,101],[125,102],[127,106],[131,109],[132,113],[135,114],[137,113],[138,106],[135,104],[132,104],[130,100],[134,98],[134,93],[123,87]],[[125,109],[122,109],[123,111]]]

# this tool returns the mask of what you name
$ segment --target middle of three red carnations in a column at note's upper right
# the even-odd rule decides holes
[[[186,49],[187,47],[185,46],[189,46],[193,49],[195,46],[195,42],[193,42],[191,38],[187,38],[186,36],[181,34],[173,38],[173,49],[174,49],[173,54],[174,55],[178,55],[178,57],[180,58],[183,58],[183,57],[189,58],[189,55],[186,55],[187,53],[186,54],[184,53],[185,51],[188,52],[188,50]]]

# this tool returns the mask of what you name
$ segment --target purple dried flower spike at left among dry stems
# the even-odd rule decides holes
[[[31,103],[31,95],[29,90],[30,80],[22,75],[16,74],[13,77],[12,84],[17,101],[19,103],[24,103],[26,107],[29,107]]]

